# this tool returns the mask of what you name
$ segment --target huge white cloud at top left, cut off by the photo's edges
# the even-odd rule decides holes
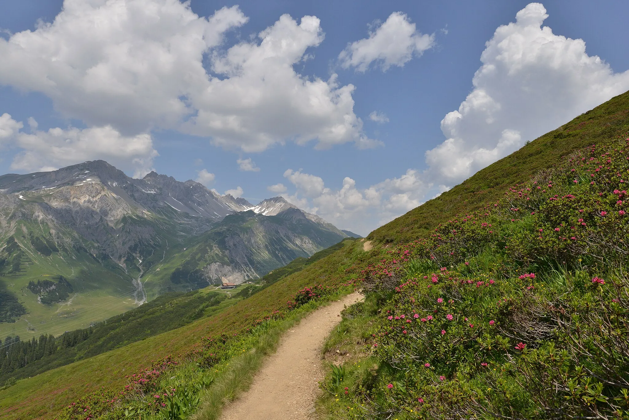
[[[52,23],[0,38],[0,82],[89,125],[177,127],[208,83],[203,55],[246,21],[237,6],[208,20],[175,0],[65,0]]]

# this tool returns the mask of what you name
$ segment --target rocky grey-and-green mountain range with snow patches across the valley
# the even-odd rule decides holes
[[[164,292],[241,283],[348,236],[282,197],[252,205],[105,161],[6,174],[0,334],[58,334]]]

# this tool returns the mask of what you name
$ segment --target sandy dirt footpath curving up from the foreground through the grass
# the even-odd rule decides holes
[[[302,420],[314,412],[323,379],[321,346],[341,321],[344,307],[362,299],[352,293],[317,309],[282,337],[247,392],[225,406],[221,420]]]

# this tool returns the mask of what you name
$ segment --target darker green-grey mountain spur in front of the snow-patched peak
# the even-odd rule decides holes
[[[298,257],[309,257],[347,237],[333,225],[318,224],[288,207],[265,216],[253,210],[225,217],[194,243],[157,264],[143,277],[150,296],[174,285],[191,287],[227,280],[242,283]]]

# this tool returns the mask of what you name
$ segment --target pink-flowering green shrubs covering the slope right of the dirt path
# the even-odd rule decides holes
[[[362,418],[629,418],[628,143],[566,157],[362,270],[379,308],[362,350],[378,375],[338,405]]]

